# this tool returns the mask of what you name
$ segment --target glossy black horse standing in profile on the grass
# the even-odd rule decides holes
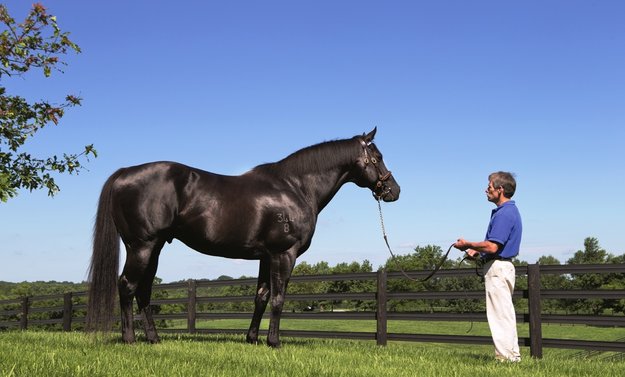
[[[158,342],[152,282],[163,245],[177,238],[203,254],[260,260],[247,341],[258,342],[271,299],[267,344],[279,347],[287,284],[295,259],[310,246],[319,212],[347,182],[371,189],[378,200],[399,198],[399,185],[372,143],[375,133],[313,145],[240,176],[175,162],[115,172],[102,188],[95,220],[87,328],[110,330],[118,291],[123,341],[135,341],[136,297],[147,340]],[[126,264],[118,277],[120,237]]]

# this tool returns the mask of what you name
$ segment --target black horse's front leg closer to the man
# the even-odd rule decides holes
[[[296,256],[297,254],[292,250],[271,256],[271,315],[267,334],[267,345],[270,347],[280,347],[280,317]]]

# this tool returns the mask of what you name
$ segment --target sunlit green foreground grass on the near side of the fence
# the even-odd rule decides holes
[[[625,361],[522,349],[519,364],[497,363],[492,347],[283,338],[280,349],[243,335],[162,335],[162,343],[119,343],[119,335],[0,333],[0,376],[621,376]]]

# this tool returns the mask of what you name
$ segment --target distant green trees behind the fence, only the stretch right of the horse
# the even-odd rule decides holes
[[[397,255],[396,258],[389,258],[384,266],[380,268],[386,271],[411,271],[411,270],[433,270],[445,255],[445,251],[439,246],[427,245],[417,246],[414,252],[407,255]],[[454,251],[452,251],[454,252]],[[516,259],[515,265],[527,265],[526,261]],[[558,259],[553,256],[543,256],[537,261],[540,265],[559,265]],[[572,258],[565,264],[619,264],[625,263],[625,254],[615,256],[600,247],[599,241],[594,237],[584,240],[584,249],[578,250]],[[464,259],[462,256],[456,259],[448,259],[443,264],[443,269],[474,267],[474,262]],[[341,263],[332,268],[326,262],[319,262],[315,265],[300,263],[295,267],[294,275],[318,275],[336,274],[345,272],[372,272],[371,263],[365,260],[362,264],[353,262],[351,264]],[[481,272],[481,271],[477,271]],[[543,289],[551,290],[596,290],[596,289],[625,289],[625,273],[612,274],[570,274],[570,275],[543,275],[541,277]],[[527,289],[527,277],[518,276],[516,281],[517,289]],[[439,278],[436,275],[427,282],[418,282],[405,278],[393,279],[388,282],[388,290],[392,292],[415,292],[415,291],[480,291],[484,289],[484,283],[480,276],[468,277],[445,277]],[[375,291],[375,283],[370,281],[337,281],[322,283],[298,283],[289,286],[289,293],[317,293],[317,292],[363,292]],[[332,306],[349,305],[353,310],[371,309],[373,303],[311,303],[312,306]],[[526,303],[517,300],[519,310],[524,310]],[[452,299],[452,300],[391,300],[388,303],[391,311],[420,311],[420,312],[475,312],[483,311],[483,300]],[[557,299],[545,300],[543,311],[552,313],[580,313],[600,315],[625,314],[625,298],[621,300],[607,299]]]

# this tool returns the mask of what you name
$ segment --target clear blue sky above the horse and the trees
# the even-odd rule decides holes
[[[29,2],[5,2],[23,19]],[[566,261],[599,239],[621,255],[625,213],[622,1],[44,2],[83,52],[64,74],[5,80],[32,100],[83,97],[27,149],[95,144],[61,192],[0,204],[0,280],[82,281],[100,188],[123,166],[172,160],[241,174],[378,127],[402,187],[391,246],[483,238],[496,170],[516,173],[521,258]],[[459,257],[460,253],[453,254]],[[371,194],[346,185],[300,261],[389,257]],[[164,281],[255,275],[257,262],[167,245]]]

